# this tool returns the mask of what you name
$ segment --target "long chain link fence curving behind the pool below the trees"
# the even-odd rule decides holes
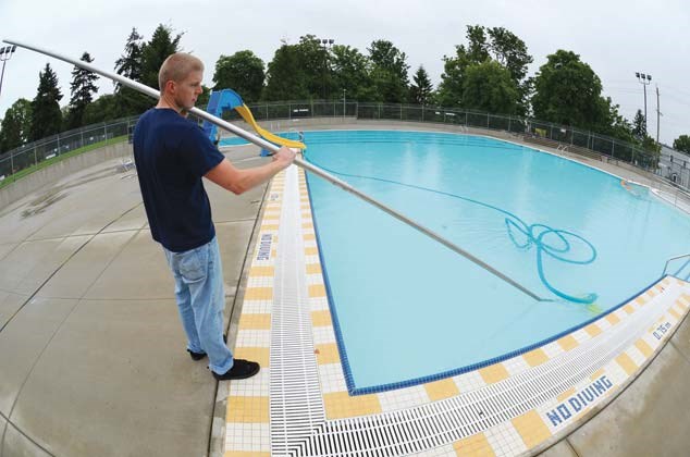
[[[603,161],[614,161],[616,163],[620,161],[660,176],[662,175],[660,155],[656,152],[645,151],[637,145],[592,132],[527,118],[414,104],[361,103],[347,101],[346,99],[263,102],[250,104],[249,108],[258,122],[310,118],[342,118],[344,120],[354,118],[360,120],[428,122],[455,125],[460,129],[465,127],[503,132],[526,141],[595,157]],[[223,113],[223,118],[229,121],[239,120],[235,111]],[[137,116],[134,116],[110,123],[89,125],[4,152],[0,155],[0,182],[44,161],[57,160],[61,155],[76,153],[81,148],[97,147],[97,144],[100,143],[104,145],[108,141],[125,140],[131,135],[136,120]],[[200,120],[197,121],[200,123]],[[680,173],[685,173],[685,171]],[[685,183],[683,180],[678,180],[677,183],[669,181],[669,184],[674,184],[676,187]]]

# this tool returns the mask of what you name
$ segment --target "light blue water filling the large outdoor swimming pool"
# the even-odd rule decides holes
[[[308,161],[553,299],[530,298],[309,174],[355,393],[461,372],[552,339],[658,280],[669,257],[690,252],[688,214],[644,187],[527,147],[382,131],[307,132],[305,141]]]

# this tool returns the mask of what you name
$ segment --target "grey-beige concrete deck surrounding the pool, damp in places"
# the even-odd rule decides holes
[[[331,127],[447,131],[382,122]],[[230,153],[238,165],[267,160],[255,158],[254,147]],[[204,362],[184,351],[164,257],[147,231],[136,178],[119,163],[96,165],[0,208],[0,457],[223,455],[225,398],[241,382],[219,386]],[[630,181],[651,180],[609,163],[589,164]],[[249,276],[247,255],[270,201],[261,212],[266,187],[242,197],[212,184],[207,189],[232,339]],[[690,447],[683,433],[690,419],[687,319],[669,343],[606,408],[538,450],[682,455]]]

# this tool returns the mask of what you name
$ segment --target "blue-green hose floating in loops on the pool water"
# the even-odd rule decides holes
[[[506,230],[508,232],[508,236],[510,237],[510,240],[517,248],[529,249],[532,246],[537,247],[537,270],[539,272],[539,279],[544,284],[544,286],[549,288],[549,291],[551,291],[554,295],[560,298],[564,298],[568,301],[574,301],[574,302],[584,304],[584,305],[591,305],[597,298],[597,295],[594,293],[586,294],[584,296],[574,296],[574,295],[569,295],[564,292],[560,292],[556,287],[551,285],[549,280],[546,280],[546,275],[544,273],[544,265],[543,265],[544,255],[551,256],[552,258],[559,260],[562,262],[574,263],[574,264],[589,264],[589,263],[592,263],[596,259],[596,249],[594,248],[594,246],[590,242],[581,237],[580,235],[577,235],[572,232],[568,232],[565,230],[555,230],[544,224],[528,225],[525,221],[522,221],[520,218],[518,218],[517,215],[513,214],[509,211],[503,210],[501,208],[496,208],[489,203],[473,200],[471,198],[463,197],[456,194],[451,194],[443,190],[436,190],[429,187],[417,186],[414,184],[401,183],[398,181],[393,181],[393,180],[384,180],[382,177],[341,173],[335,170],[328,169],[319,163],[316,163],[313,160],[307,157],[306,152],[304,158],[306,161],[319,166],[320,169],[325,170],[329,173],[337,174],[340,176],[358,177],[362,180],[378,181],[381,183],[387,183],[387,184],[393,184],[397,186],[404,186],[404,187],[409,187],[409,188],[414,188],[418,190],[429,192],[433,194],[444,195],[446,197],[457,198],[460,200],[468,201],[470,203],[479,205],[481,207],[498,211],[506,215],[505,218]],[[525,235],[526,242],[525,243],[518,242],[515,238],[515,232],[519,232],[522,235]],[[562,243],[562,246],[554,246],[553,244],[545,243],[544,237],[546,237],[547,235],[555,235],[557,239]],[[570,242],[568,242],[568,238],[570,239],[575,238],[575,240],[582,242],[584,245],[589,247],[591,255],[584,260],[574,260],[574,259],[566,258],[565,255],[570,251],[570,247],[571,247],[571,244]]]

